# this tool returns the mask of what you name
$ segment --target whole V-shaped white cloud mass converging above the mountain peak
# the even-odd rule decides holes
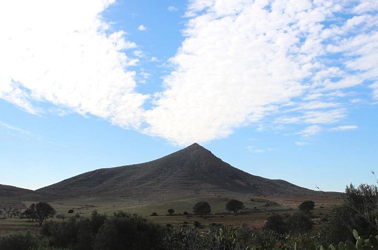
[[[268,116],[309,137],[347,116],[350,92],[368,87],[378,99],[375,1],[191,0],[153,98],[136,92],[130,70],[142,51],[102,19],[112,2],[1,3],[0,98],[36,114],[35,103],[53,103],[176,145]]]

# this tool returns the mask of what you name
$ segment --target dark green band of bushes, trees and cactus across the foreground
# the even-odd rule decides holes
[[[314,222],[320,218],[312,214],[315,203],[307,200],[291,214],[273,213],[265,227],[259,229],[247,224],[239,227],[202,224],[206,216],[207,220],[211,217],[207,202],[195,204],[193,212],[198,216],[187,214],[193,222],[179,226],[155,223],[122,211],[112,216],[97,211],[89,217],[66,218],[58,214],[59,220],[40,223],[39,234],[0,236],[0,249],[378,249],[377,203],[375,186],[350,185],[345,190],[344,204],[332,207],[318,226],[314,227]],[[226,203],[226,208],[236,215],[243,211],[244,204],[234,199]],[[174,217],[173,208],[166,211],[169,217]],[[235,215],[230,216],[243,216]]]

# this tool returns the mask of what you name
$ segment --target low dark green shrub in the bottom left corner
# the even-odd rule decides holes
[[[27,250],[38,245],[38,238],[30,231],[0,236],[0,249]]]

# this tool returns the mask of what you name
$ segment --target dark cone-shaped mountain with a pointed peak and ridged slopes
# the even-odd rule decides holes
[[[254,176],[232,167],[198,144],[160,159],[98,169],[37,190],[41,195],[126,197],[160,200],[204,195],[315,194],[283,180]]]

